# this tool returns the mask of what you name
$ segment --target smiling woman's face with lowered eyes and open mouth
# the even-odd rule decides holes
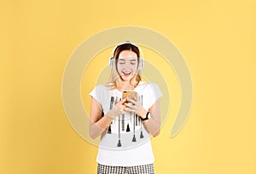
[[[124,50],[119,53],[117,70],[123,81],[131,81],[132,76],[137,74],[137,53]]]

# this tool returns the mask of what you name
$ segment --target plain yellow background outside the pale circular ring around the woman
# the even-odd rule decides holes
[[[61,78],[98,31],[138,25],[183,53],[189,120],[153,139],[156,173],[256,173],[255,1],[7,1],[0,5],[0,173],[96,173],[96,147],[67,121]]]

